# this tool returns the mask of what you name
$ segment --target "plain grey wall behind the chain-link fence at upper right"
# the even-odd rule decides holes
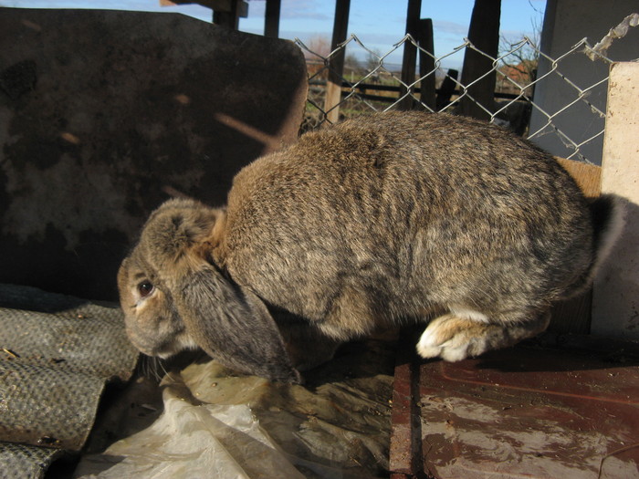
[[[602,39],[608,31],[623,21],[625,16],[639,12],[639,0],[548,0],[546,16],[541,37],[541,50],[551,58],[559,58],[577,44],[581,38],[587,37],[592,45]],[[608,57],[615,61],[639,58],[639,27],[631,28],[628,34],[616,40],[608,50]],[[586,89],[608,76],[609,65],[601,60],[592,61],[582,54],[572,54],[560,60],[558,69],[561,74],[570,78],[579,88]],[[538,78],[550,70],[550,62],[543,58],[539,61]],[[607,82],[592,89],[587,100],[606,110]],[[549,114],[556,113],[565,105],[577,99],[578,92],[563,78],[551,74],[549,78],[539,82],[535,89],[535,104]],[[592,112],[583,101],[572,105],[566,112],[553,120],[553,123],[564,131],[573,141],[580,143],[603,129],[605,119]],[[533,109],[530,119],[530,132],[542,128],[547,118],[539,110]],[[567,157],[571,150],[567,149],[557,134],[547,128],[540,136],[533,138],[541,148],[550,153]],[[602,161],[603,136],[582,147],[584,156],[595,164]],[[577,158],[575,158],[577,159]]]

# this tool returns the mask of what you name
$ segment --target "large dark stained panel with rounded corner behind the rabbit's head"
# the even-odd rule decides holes
[[[120,260],[172,192],[225,203],[295,141],[291,42],[176,14],[0,8],[0,282],[116,297]]]

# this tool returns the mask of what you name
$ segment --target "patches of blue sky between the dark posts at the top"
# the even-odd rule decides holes
[[[468,31],[474,0],[424,0],[422,17],[432,18],[435,30],[435,55],[444,56],[463,43]],[[27,8],[105,8],[179,12],[203,21],[211,21],[211,10],[199,5],[162,7],[159,0],[0,0],[2,6]],[[248,3],[248,17],[240,20],[240,30],[261,35],[264,30],[264,0]],[[355,34],[368,48],[381,54],[393,49],[403,38],[406,22],[405,0],[351,0],[349,35]],[[511,40],[533,36],[534,25],[540,29],[546,0],[502,0],[501,35]],[[308,44],[313,37],[330,41],[335,2],[329,0],[282,0],[279,35],[298,37]],[[354,43],[349,53],[365,57],[365,51]],[[401,63],[402,49],[387,58]],[[444,67],[460,68],[463,54],[447,57]]]

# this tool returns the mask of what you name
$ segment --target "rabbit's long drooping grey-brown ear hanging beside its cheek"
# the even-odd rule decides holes
[[[178,312],[200,348],[231,368],[299,382],[278,327],[256,295],[204,263],[176,286]]]

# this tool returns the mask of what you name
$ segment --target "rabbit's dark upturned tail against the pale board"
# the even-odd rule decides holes
[[[592,285],[603,262],[623,230],[625,208],[621,198],[613,194],[602,194],[590,203],[593,230],[593,257],[590,267],[580,280],[571,286],[564,297],[574,297]]]

